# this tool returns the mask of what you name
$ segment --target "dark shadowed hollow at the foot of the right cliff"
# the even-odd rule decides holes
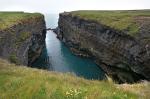
[[[122,83],[135,83],[146,79],[144,76],[133,72],[132,70],[124,70],[117,67],[106,66],[101,64],[102,69],[113,78],[114,82]]]

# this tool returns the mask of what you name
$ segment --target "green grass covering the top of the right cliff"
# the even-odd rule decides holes
[[[138,16],[150,17],[150,10],[73,11],[71,14],[86,20],[95,20],[117,30],[127,31],[129,35],[134,36],[139,32],[139,25],[135,18]]]

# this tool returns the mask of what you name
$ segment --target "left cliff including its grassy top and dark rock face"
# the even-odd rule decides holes
[[[30,65],[45,46],[45,29],[42,14],[0,12],[0,57]]]

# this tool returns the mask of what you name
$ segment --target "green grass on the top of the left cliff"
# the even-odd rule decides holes
[[[27,20],[38,16],[41,16],[41,14],[24,12],[0,12],[0,30],[21,23],[21,21],[24,19]]]

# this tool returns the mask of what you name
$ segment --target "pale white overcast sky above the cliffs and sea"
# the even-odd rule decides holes
[[[150,0],[0,0],[0,11],[59,13],[125,9],[150,9]]]

